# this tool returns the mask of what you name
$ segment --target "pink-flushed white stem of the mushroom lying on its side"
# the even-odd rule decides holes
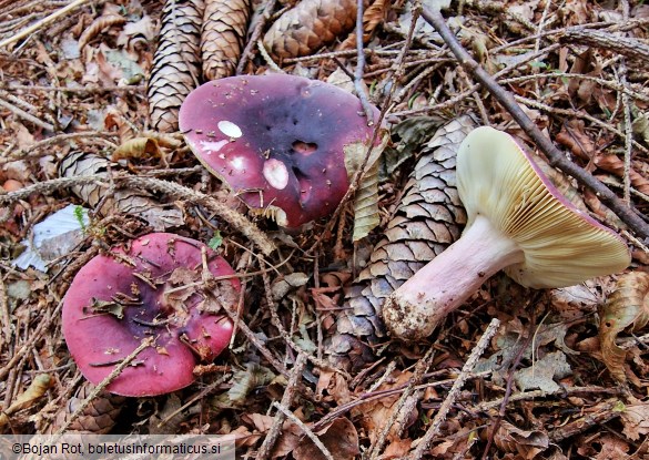
[[[424,338],[491,275],[521,262],[518,245],[477,215],[457,242],[387,298],[385,323],[396,337]]]

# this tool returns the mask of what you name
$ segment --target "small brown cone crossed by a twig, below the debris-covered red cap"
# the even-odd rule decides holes
[[[72,413],[94,390],[94,385],[84,381],[71,397],[64,407],[54,416],[54,422],[50,427],[50,432],[57,432],[68,423]],[[70,431],[88,432],[93,435],[109,433],[115,426],[116,418],[124,407],[126,398],[123,396],[112,395],[108,391],[101,391],[97,398],[92,399],[88,407],[81,411],[81,415],[72,421],[68,428]]]

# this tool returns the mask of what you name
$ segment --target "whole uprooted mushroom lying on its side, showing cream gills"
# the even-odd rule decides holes
[[[387,298],[383,315],[393,336],[427,337],[500,269],[523,286],[554,288],[630,264],[622,238],[561,196],[508,134],[488,126],[469,133],[456,174],[467,225]]]

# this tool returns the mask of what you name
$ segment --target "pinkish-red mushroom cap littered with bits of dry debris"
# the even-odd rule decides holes
[[[194,367],[229,346],[232,323],[213,310],[231,307],[241,285],[227,278],[210,295],[189,286],[192,278],[201,279],[202,248],[212,275],[234,275],[227,262],[204,244],[169,233],[141,236],[112,249],[112,255],[92,258],[78,272],[63,300],[63,336],[88,380],[101,382],[152,338],[151,347],[108,390],[162,395],[192,384]]]

